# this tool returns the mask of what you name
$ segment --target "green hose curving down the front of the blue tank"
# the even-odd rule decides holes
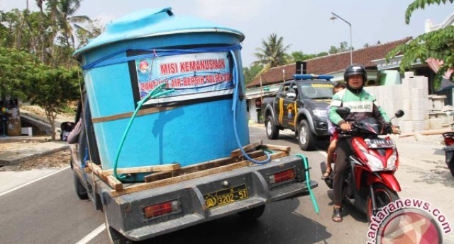
[[[143,98],[142,100],[138,101],[138,103],[137,103],[138,106],[135,109],[135,111],[133,113],[133,116],[131,116],[131,120],[129,120],[129,122],[128,122],[128,126],[126,127],[126,130],[123,133],[123,137],[121,138],[120,145],[118,146],[118,150],[116,151],[115,163],[114,163],[114,176],[115,176],[116,179],[118,179],[118,180],[126,179],[126,177],[124,175],[118,176],[116,174],[116,168],[117,168],[117,165],[118,165],[118,158],[120,158],[121,149],[123,149],[123,144],[125,142],[126,135],[128,135],[129,129],[131,128],[131,124],[133,124],[133,121],[135,119],[135,115],[137,115],[137,113],[139,112],[140,108],[142,108],[143,103],[148,101],[148,99],[157,98],[157,97],[160,97],[161,95],[166,95],[168,93],[172,93],[173,91],[175,91],[175,90],[162,91],[162,89],[165,88],[165,86],[167,86],[167,83],[160,83],[150,93],[148,93],[148,95],[146,95],[145,98]]]

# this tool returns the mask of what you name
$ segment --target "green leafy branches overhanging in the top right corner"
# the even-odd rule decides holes
[[[446,4],[453,3],[454,0],[416,0],[406,8],[405,22],[410,23],[411,14],[418,8],[425,8],[431,4]],[[443,64],[438,70],[438,79],[442,74],[445,74],[448,69],[453,69],[454,66],[454,26],[450,25],[447,28],[434,30],[429,33],[424,33],[416,37],[411,42],[399,45],[387,54],[387,62],[389,59],[396,57],[398,54],[404,54],[400,64],[400,71],[411,68],[411,64],[417,59],[425,62],[429,58],[443,60]],[[448,79],[453,80],[451,74]]]

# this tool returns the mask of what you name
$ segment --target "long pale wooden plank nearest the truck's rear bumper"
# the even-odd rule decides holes
[[[282,158],[284,156],[286,156],[286,153],[284,151],[280,151],[278,153],[273,153],[273,154],[270,155],[270,157],[272,159]],[[261,157],[255,158],[255,160],[262,161],[262,160],[265,160],[266,158],[267,158],[267,156],[261,156]],[[247,165],[252,165],[252,164],[253,163],[251,163],[250,161],[240,161],[238,163],[233,163],[233,164],[229,164],[229,165],[223,165],[223,166],[218,167],[218,168],[211,168],[209,170],[203,170],[203,171],[199,171],[199,172],[195,172],[195,173],[190,173],[190,174],[187,174],[187,175],[180,175],[180,176],[177,176],[177,177],[174,177],[174,178],[169,178],[169,179],[164,179],[164,180],[157,180],[155,182],[147,182],[147,183],[142,183],[142,184],[138,184],[138,185],[131,185],[131,186],[128,186],[128,187],[124,188],[121,191],[112,190],[111,191],[111,195],[112,195],[112,197],[118,197],[121,194],[130,194],[130,193],[133,193],[133,192],[140,192],[142,190],[149,190],[149,189],[153,189],[153,188],[156,188],[156,187],[162,187],[164,185],[175,184],[175,183],[178,183],[178,182],[182,182],[184,180],[192,180],[192,179],[201,178],[201,177],[204,177],[204,176],[207,176],[207,175],[214,175],[216,173],[221,173],[221,172],[234,170],[236,168],[241,168],[241,167],[244,167],[244,166],[247,166]]]

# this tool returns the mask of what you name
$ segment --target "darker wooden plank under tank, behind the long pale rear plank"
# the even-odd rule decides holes
[[[258,156],[262,156],[264,154],[265,153],[263,151],[258,150],[258,151],[253,151],[251,153],[248,153],[248,156],[250,156],[251,158],[255,158]],[[194,173],[194,172],[201,171],[201,170],[207,170],[209,168],[216,168],[219,166],[236,163],[238,161],[243,161],[243,160],[245,160],[244,156],[240,156],[238,158],[232,158],[232,157],[219,158],[214,161],[206,161],[204,163],[197,163],[194,165],[189,165],[189,166],[180,168],[178,170],[173,170],[172,172],[167,171],[167,172],[162,172],[162,173],[153,173],[151,175],[146,175],[144,180],[145,180],[145,182],[153,182],[156,180],[162,180],[165,178],[171,178],[171,177],[175,177],[175,176],[179,176],[179,175],[183,175],[183,174],[189,174],[189,173]]]

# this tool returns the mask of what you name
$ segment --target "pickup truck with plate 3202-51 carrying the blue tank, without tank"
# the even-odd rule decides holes
[[[76,116],[76,121],[82,120],[79,141],[70,145],[74,187],[80,199],[90,199],[103,211],[112,243],[133,243],[231,214],[254,221],[265,204],[308,195],[317,187],[309,179],[305,158],[289,156],[289,147],[261,143],[243,150],[258,161],[270,151],[271,160],[265,164],[251,163],[237,149],[231,157],[150,172],[145,182],[118,182],[111,170],[101,168],[92,115],[84,100]]]

